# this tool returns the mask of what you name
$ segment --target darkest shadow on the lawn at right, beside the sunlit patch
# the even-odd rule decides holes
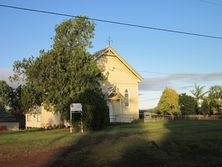
[[[209,121],[165,121],[168,133],[161,141],[142,139],[139,144],[129,145],[115,166],[221,166],[221,128],[214,131],[212,124],[215,128],[222,125]]]

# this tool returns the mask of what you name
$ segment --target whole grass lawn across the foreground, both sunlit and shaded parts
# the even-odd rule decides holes
[[[53,167],[222,166],[222,121],[158,121],[84,134],[68,129],[0,133],[0,164],[18,166],[20,159],[26,161],[21,166],[33,160]],[[37,163],[43,161],[50,163]]]

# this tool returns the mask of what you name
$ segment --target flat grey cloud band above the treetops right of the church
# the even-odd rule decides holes
[[[145,78],[139,85],[140,91],[162,91],[165,87],[188,89],[194,83],[222,81],[222,72],[216,73],[176,73],[163,77]],[[192,84],[192,85],[191,85]]]

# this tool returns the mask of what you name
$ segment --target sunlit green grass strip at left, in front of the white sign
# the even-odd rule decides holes
[[[70,134],[68,129],[24,130],[0,133],[0,153],[17,154],[21,152],[48,151],[74,144],[81,134]]]

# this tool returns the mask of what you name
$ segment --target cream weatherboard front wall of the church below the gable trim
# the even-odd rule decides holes
[[[125,107],[124,103],[122,103],[120,104],[122,109],[117,110],[116,102],[110,105],[112,107],[110,121],[131,122],[134,119],[138,119],[138,77],[115,55],[104,54],[97,60],[97,63],[107,76],[107,82],[103,85],[104,89],[106,87],[115,86],[123,96],[125,90],[128,90],[129,94],[128,107]],[[114,119],[115,116],[117,118]]]

